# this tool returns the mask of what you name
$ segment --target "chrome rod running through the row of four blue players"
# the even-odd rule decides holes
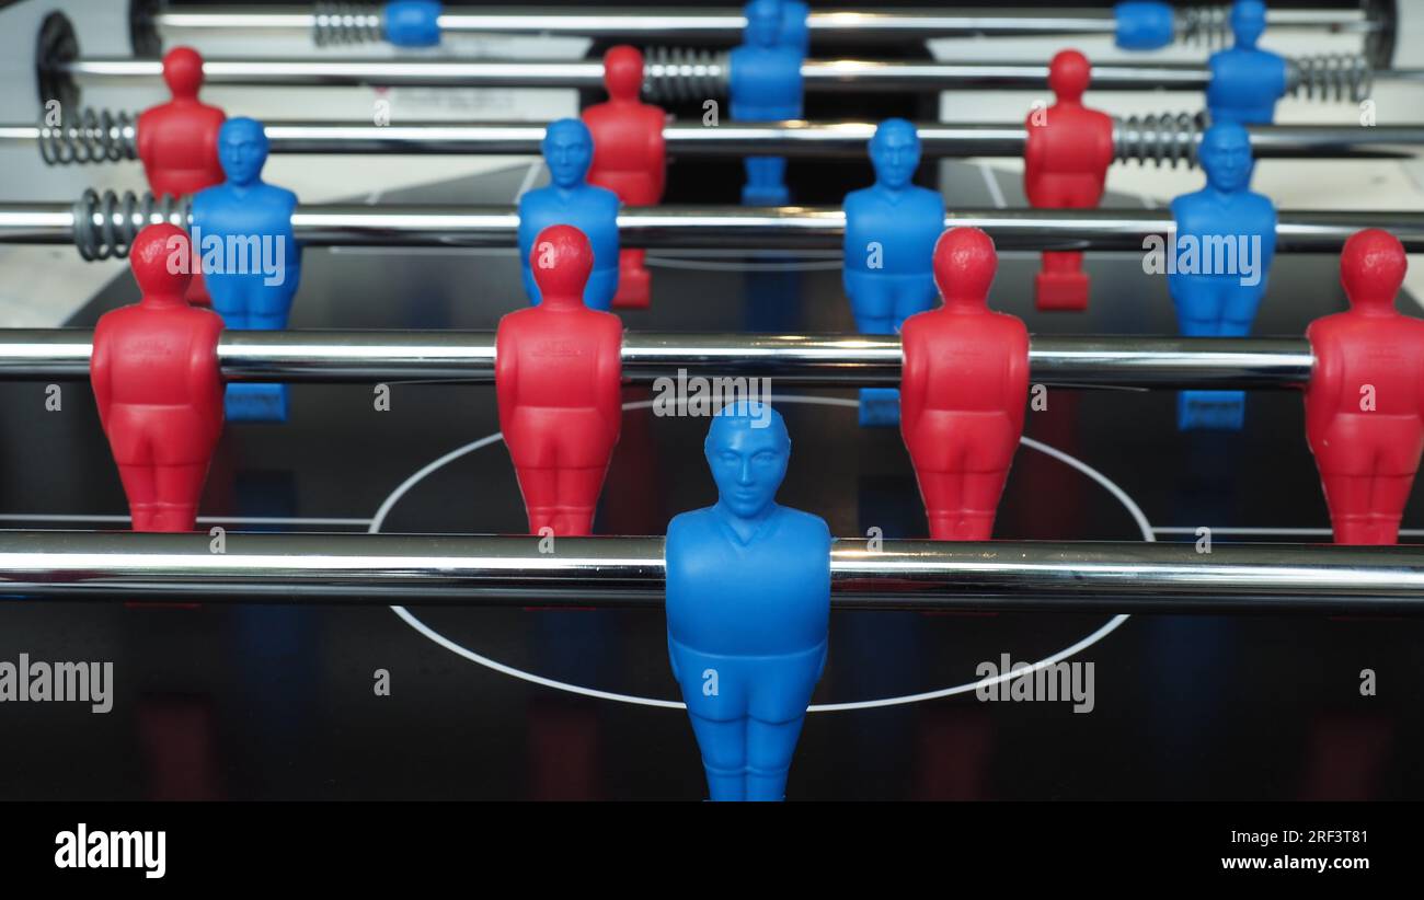
[[[151,198],[148,198],[151,201]],[[81,204],[83,205],[83,204]],[[91,205],[75,214],[71,204],[0,205],[0,245],[98,241],[103,231],[132,235],[145,225],[174,221],[144,204]],[[946,228],[983,228],[998,249],[1135,251],[1153,236],[1176,234],[1166,209],[957,209]],[[836,206],[625,206],[618,214],[624,246],[635,248],[839,248],[846,228]],[[1292,211],[1279,214],[1277,252],[1339,252],[1363,228],[1393,232],[1410,252],[1424,251],[1424,212]],[[306,246],[514,246],[514,206],[416,206],[365,204],[299,205],[292,229]],[[127,251],[125,251],[127,252]],[[750,251],[749,251],[750,252]]]

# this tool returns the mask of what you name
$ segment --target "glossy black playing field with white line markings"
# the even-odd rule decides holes
[[[387,199],[510,202],[525,174]],[[993,204],[975,167],[943,175],[950,208]],[[1000,187],[1022,205],[1008,177]],[[853,329],[832,256],[649,261],[652,309],[625,313],[631,330]],[[1085,315],[1035,313],[1035,269],[1034,255],[1005,255],[991,296],[1031,332],[1175,330],[1165,278],[1136,255],[1089,256]],[[120,278],[71,325],[135,299]],[[523,303],[513,252],[308,251],[292,326],[493,329]],[[1340,308],[1334,258],[1283,255],[1257,333],[1299,336]],[[289,423],[229,424],[204,527],[523,528],[493,387],[392,384],[389,412],[373,397],[296,386]],[[899,433],[859,429],[853,399],[779,399],[793,440],[780,500],[837,535],[923,535]],[[0,384],[0,400],[4,527],[127,527],[88,386],[66,384],[58,412],[43,384]],[[662,534],[709,503],[705,426],[627,412],[595,531]],[[1054,389],[1027,436],[995,537],[1195,540],[1205,525],[1216,541],[1329,540],[1292,392],[1250,394],[1242,433],[1183,434],[1168,392]],[[1420,524],[1415,503],[1404,540]],[[840,612],[816,695],[832,709],[807,718],[787,799],[1424,797],[1421,639],[1417,619]],[[981,662],[1068,652],[1094,664],[1091,711],[981,701],[970,686]],[[692,732],[664,706],[676,686],[658,612],[0,605],[0,661],[20,654],[111,661],[114,689],[107,713],[7,705],[0,796],[11,799],[703,796]],[[376,695],[377,671],[389,696]]]

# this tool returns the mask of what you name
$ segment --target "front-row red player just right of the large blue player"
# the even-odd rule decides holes
[[[938,541],[987,541],[1008,480],[1028,402],[1028,329],[991,312],[998,256],[977,228],[934,245],[944,306],[901,330],[900,433]]]

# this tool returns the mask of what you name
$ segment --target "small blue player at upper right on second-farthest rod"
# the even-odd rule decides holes
[[[1212,54],[1212,80],[1206,85],[1206,108],[1212,122],[1269,125],[1276,101],[1286,93],[1286,60],[1256,47],[1266,30],[1266,4],[1236,0],[1232,6],[1232,34],[1236,43]]]

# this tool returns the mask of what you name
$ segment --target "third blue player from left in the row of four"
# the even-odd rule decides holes
[[[843,282],[856,328],[894,335],[934,302],[934,242],[944,231],[944,197],[913,184],[920,135],[903,118],[887,118],[870,138],[876,182],[846,195]],[[900,423],[900,392],[860,392],[860,424]]]

